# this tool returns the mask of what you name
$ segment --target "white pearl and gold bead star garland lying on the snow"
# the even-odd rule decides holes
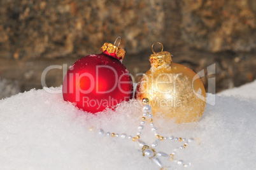
[[[99,129],[98,133],[100,135],[111,136],[113,138],[120,137],[122,139],[132,139],[132,141],[138,142],[138,145],[141,147],[141,150],[142,150],[142,155],[153,160],[153,162],[155,162],[155,164],[157,164],[157,166],[159,166],[160,169],[167,168],[162,165],[162,162],[159,159],[160,157],[166,157],[171,162],[175,162],[176,164],[182,165],[184,167],[190,166],[190,163],[185,164],[183,160],[174,159],[174,155],[179,150],[183,150],[183,149],[187,148],[188,143],[191,143],[192,141],[194,141],[194,138],[186,139],[186,138],[177,138],[174,136],[160,136],[157,131],[158,130],[157,127],[155,127],[155,125],[153,124],[152,107],[148,104],[148,101],[145,102],[144,99],[143,99],[143,103],[144,103],[143,108],[142,108],[143,116],[141,117],[141,122],[140,122],[140,125],[138,125],[138,132],[135,137],[132,137],[131,135],[127,136],[127,134],[125,134],[125,133],[122,133],[122,134],[116,134],[114,132],[106,132],[105,133],[103,129]],[[146,145],[146,143],[144,141],[141,141],[141,139],[139,139],[140,135],[141,135],[141,131],[143,131],[144,125],[146,124],[146,117],[148,117],[148,121],[150,122],[151,130],[154,133],[155,138],[156,138],[156,140],[150,146]],[[90,127],[89,131],[92,131],[92,130],[93,130],[93,128]],[[181,145],[178,148],[174,148],[173,152],[170,154],[167,154],[164,152],[157,152],[155,150],[155,148],[157,148],[160,141],[164,141],[164,140],[183,142],[183,145]]]

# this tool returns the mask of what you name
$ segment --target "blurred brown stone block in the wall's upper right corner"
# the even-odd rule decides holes
[[[256,1],[186,0],[183,39],[210,52],[250,52],[256,48]]]

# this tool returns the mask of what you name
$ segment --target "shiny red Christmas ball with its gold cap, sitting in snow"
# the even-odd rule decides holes
[[[115,43],[104,43],[102,53],[87,55],[69,67],[62,87],[64,101],[96,113],[131,99],[132,78],[122,64],[125,51]]]

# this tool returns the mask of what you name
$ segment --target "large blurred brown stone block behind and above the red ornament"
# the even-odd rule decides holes
[[[119,35],[122,46],[140,52],[164,29],[164,6],[160,2],[1,1],[1,57],[87,55]]]

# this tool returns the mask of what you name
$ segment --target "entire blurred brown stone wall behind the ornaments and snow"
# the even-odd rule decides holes
[[[220,91],[255,79],[255,17],[254,0],[4,0],[0,76],[17,80],[22,91],[39,89],[46,67],[70,65],[121,36],[132,74],[149,69],[151,45],[160,41],[174,62],[196,72],[207,74],[215,63]],[[58,86],[62,77],[49,72],[46,83]]]

